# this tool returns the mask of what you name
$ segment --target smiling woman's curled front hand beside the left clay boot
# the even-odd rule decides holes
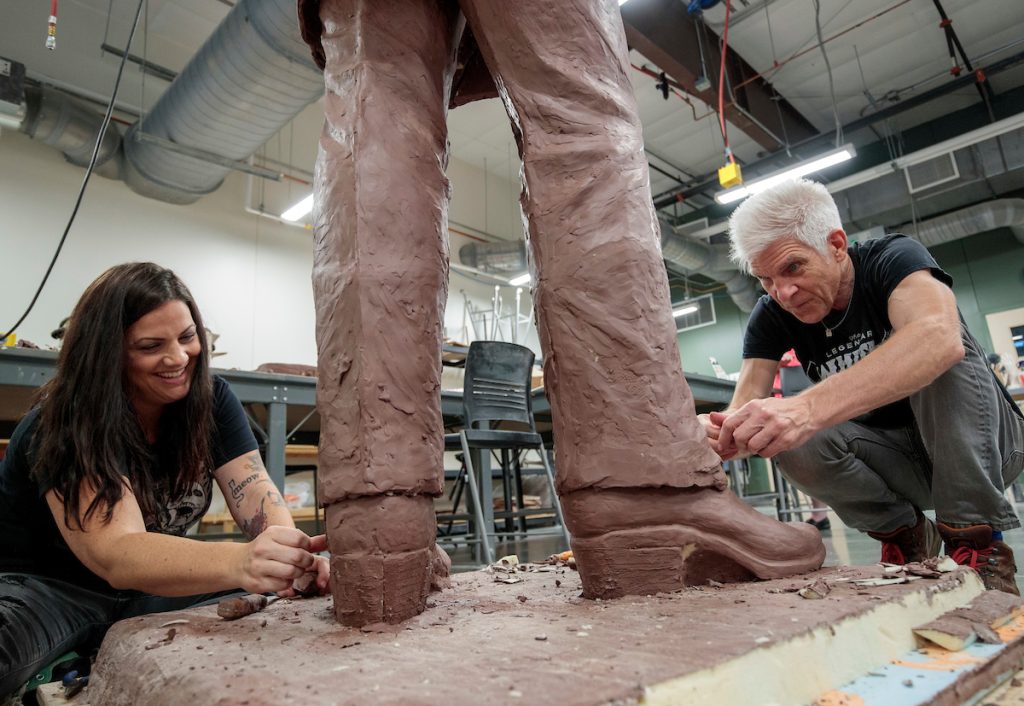
[[[241,565],[237,568],[239,586],[250,593],[294,595],[292,584],[295,579],[313,570],[317,572],[317,585],[321,575],[326,585],[329,569],[321,566],[326,559],[313,553],[327,546],[323,537],[310,538],[293,527],[272,525],[266,528],[246,545]]]

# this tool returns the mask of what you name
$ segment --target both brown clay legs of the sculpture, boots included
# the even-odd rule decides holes
[[[590,596],[814,569],[807,525],[723,492],[683,379],[617,5],[462,0],[523,158],[558,491]],[[323,0],[313,285],[321,497],[340,621],[422,610],[444,568],[444,106],[460,25],[433,0]]]

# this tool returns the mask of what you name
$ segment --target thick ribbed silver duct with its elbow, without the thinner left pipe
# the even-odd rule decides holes
[[[139,131],[242,161],[323,94],[295,0],[241,0],[128,130],[125,181],[142,196],[193,203],[216,190],[230,167],[140,141]]]

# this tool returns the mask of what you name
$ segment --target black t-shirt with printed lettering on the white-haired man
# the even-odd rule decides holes
[[[892,334],[889,297],[908,275],[928,269],[936,280],[952,286],[952,278],[925,246],[906,236],[854,243],[849,253],[854,269],[853,298],[845,319],[831,312],[822,323],[804,324],[765,294],[751,313],[743,358],[778,361],[793,348],[807,376],[820,382],[854,365]],[[825,335],[827,323],[839,324],[830,337]],[[857,421],[882,428],[910,426],[913,413],[904,398],[861,415]]]

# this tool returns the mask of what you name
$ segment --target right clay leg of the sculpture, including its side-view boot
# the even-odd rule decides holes
[[[557,486],[584,592],[817,568],[814,528],[767,520],[722,492],[696,420],[617,4],[460,5],[523,158]]]

